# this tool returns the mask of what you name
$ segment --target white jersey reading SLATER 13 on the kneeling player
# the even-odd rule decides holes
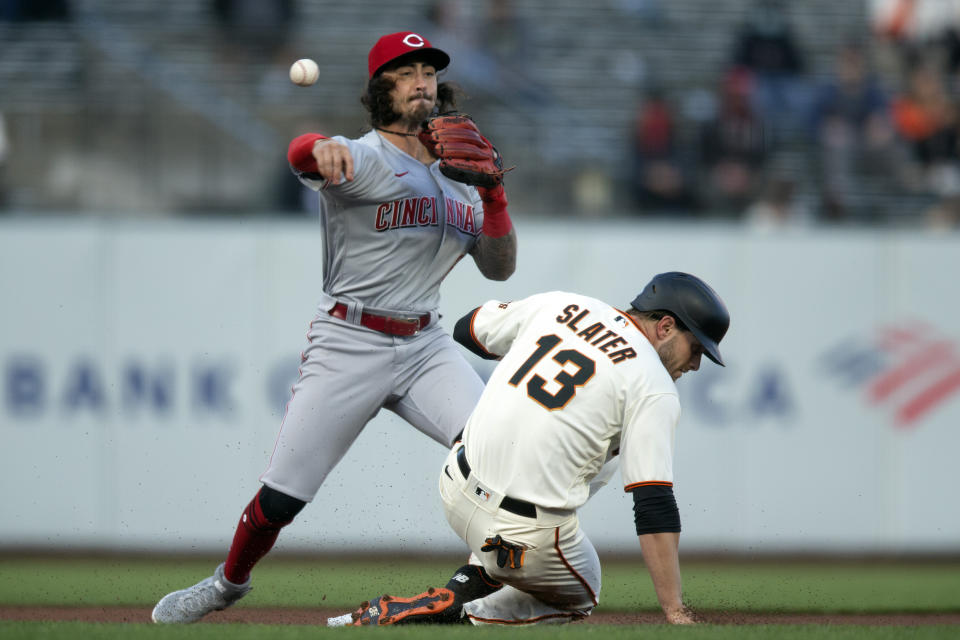
[[[503,356],[463,435],[471,468],[493,491],[576,509],[617,454],[625,490],[673,484],[676,385],[625,313],[555,291],[487,302],[471,333]]]

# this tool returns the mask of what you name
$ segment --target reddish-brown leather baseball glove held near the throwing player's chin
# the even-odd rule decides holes
[[[434,116],[423,123],[418,137],[440,158],[440,173],[451,180],[492,188],[503,182],[503,174],[510,171],[504,170],[500,153],[483,137],[470,116]]]

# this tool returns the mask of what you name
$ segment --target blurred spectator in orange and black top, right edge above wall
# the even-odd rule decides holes
[[[958,105],[932,65],[910,71],[906,91],[893,102],[893,119],[923,171],[924,186],[940,196],[960,193]]]

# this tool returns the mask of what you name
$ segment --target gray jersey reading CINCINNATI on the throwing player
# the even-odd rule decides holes
[[[350,149],[354,179],[300,177],[320,193],[324,292],[374,311],[435,310],[440,283],[483,227],[479,193],[376,131],[333,139]]]

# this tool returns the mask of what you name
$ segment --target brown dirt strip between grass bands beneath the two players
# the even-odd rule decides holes
[[[294,624],[323,626],[327,618],[343,611],[329,609],[279,609],[238,607],[218,611],[203,624],[238,622],[246,624]],[[920,626],[933,624],[960,625],[960,613],[896,613],[896,614],[772,614],[743,612],[701,613],[711,624],[839,624],[866,626]],[[146,607],[11,607],[0,606],[0,620],[77,621],[77,622],[150,622]],[[663,624],[663,616],[655,613],[597,612],[581,624]]]

